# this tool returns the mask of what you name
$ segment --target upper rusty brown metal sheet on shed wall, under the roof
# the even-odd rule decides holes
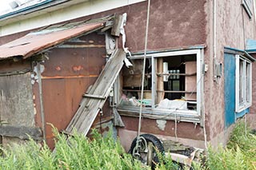
[[[94,38],[94,42],[98,42],[98,40],[103,41],[105,36],[92,33],[80,38],[83,41]],[[84,42],[79,42],[80,45],[82,43]],[[105,48],[51,49],[49,60],[44,64],[46,70],[42,73],[42,77],[69,78],[98,75],[102,70],[102,65],[106,63],[106,60],[102,59],[103,53],[106,53]],[[57,66],[61,67],[61,70],[57,70]]]

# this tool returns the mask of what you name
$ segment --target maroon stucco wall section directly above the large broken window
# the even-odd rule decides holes
[[[174,49],[206,42],[204,0],[154,0],[150,6],[148,49]],[[144,49],[146,3],[126,10],[127,46],[131,51]]]

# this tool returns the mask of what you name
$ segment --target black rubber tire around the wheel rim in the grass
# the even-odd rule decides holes
[[[160,154],[164,155],[165,153],[165,149],[162,146],[162,142],[158,139],[158,137],[151,135],[151,134],[142,134],[140,135],[142,137],[144,137],[147,141],[147,143],[152,142],[152,144],[154,145],[155,148],[158,148],[158,151],[160,152]],[[133,150],[136,146],[136,142],[137,142],[137,137],[133,140],[133,142],[130,144],[130,150],[129,153],[132,154]],[[154,156],[153,160],[156,164],[159,163],[159,158],[158,156]],[[155,164],[152,164],[152,169],[155,168]]]

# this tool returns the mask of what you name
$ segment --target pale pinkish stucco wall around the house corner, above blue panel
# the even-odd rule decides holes
[[[255,19],[252,18],[250,20],[248,18],[240,0],[216,2],[216,61],[224,64],[224,46],[236,49],[245,49],[246,39],[255,39]],[[209,21],[207,25],[207,32],[210,35],[207,38],[207,47],[209,50],[206,52],[206,56],[210,57],[205,57],[206,64],[209,65],[209,72],[206,73],[205,78],[206,121],[208,124],[207,126],[211,129],[210,132],[208,132],[210,139],[218,138],[218,143],[225,144],[229,133],[226,132],[228,129],[224,129],[224,77],[222,76],[218,81],[213,80],[213,9],[214,5],[213,1],[211,1],[209,2],[209,12],[207,13],[207,21]],[[225,69],[225,65],[223,65],[223,69]],[[218,134],[221,134],[221,136]]]

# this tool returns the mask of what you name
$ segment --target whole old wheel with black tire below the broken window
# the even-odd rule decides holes
[[[159,163],[159,158],[156,149],[159,154],[164,155],[164,148],[162,142],[158,137],[151,134],[142,134],[138,138],[138,146],[136,137],[130,145],[130,154],[134,156],[135,159],[140,160],[142,164],[151,165],[151,168],[155,168],[155,165]],[[150,143],[153,144],[153,149],[150,151]],[[151,147],[152,148],[152,147]],[[150,160],[149,160],[150,159]]]

